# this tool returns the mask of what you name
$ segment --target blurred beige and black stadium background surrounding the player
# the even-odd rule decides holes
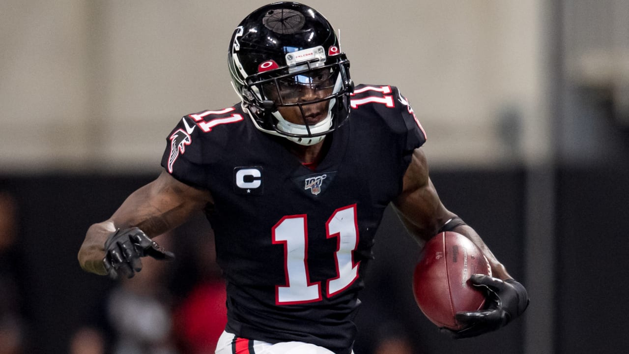
[[[87,227],[159,174],[182,115],[237,101],[228,41],[265,3],[0,2],[0,191],[23,261],[2,264],[18,275],[28,353],[69,352],[90,325],[114,285],[79,268]],[[628,352],[629,2],[308,4],[339,28],[355,82],[409,98],[445,205],[532,300],[496,334],[444,338],[414,307],[417,248],[389,213],[356,353],[386,336],[413,353]]]

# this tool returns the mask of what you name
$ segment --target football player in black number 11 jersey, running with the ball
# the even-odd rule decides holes
[[[227,290],[217,354],[349,354],[374,235],[392,204],[420,243],[459,232],[491,263],[494,277],[472,277],[489,307],[459,314],[467,327],[455,338],[525,311],[525,288],[440,202],[408,100],[394,86],[353,84],[318,11],[287,2],[253,11],[228,62],[240,103],[179,121],[157,180],[87,231],[84,270],[132,277],[143,256],[172,258],[150,237],[204,210]]]

